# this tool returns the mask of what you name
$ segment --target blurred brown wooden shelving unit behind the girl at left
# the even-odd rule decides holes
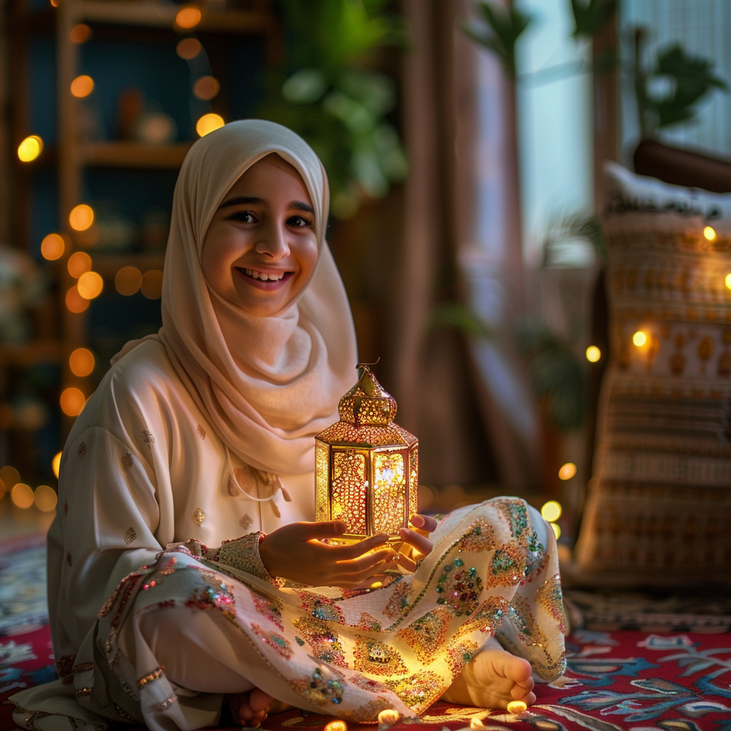
[[[35,363],[55,362],[61,366],[61,390],[74,386],[85,395],[91,393],[91,380],[72,374],[69,368],[69,355],[78,347],[88,345],[90,307],[75,314],[65,304],[66,293],[77,280],[69,275],[67,262],[75,251],[86,251],[91,255],[92,268],[102,275],[107,291],[114,288],[115,274],[122,267],[134,266],[145,273],[149,270],[162,270],[164,252],[162,251],[96,251],[88,248],[88,240],[78,234],[69,224],[69,213],[80,203],[93,203],[83,200],[83,181],[85,171],[90,168],[110,170],[145,171],[178,170],[189,151],[192,141],[181,141],[162,145],[148,145],[129,140],[86,140],[80,135],[81,107],[83,101],[72,96],[72,80],[83,73],[80,67],[81,46],[71,39],[72,29],[79,23],[86,23],[98,33],[99,39],[122,39],[129,43],[175,43],[176,34],[185,37],[202,34],[209,41],[221,34],[228,43],[235,43],[232,35],[260,35],[265,38],[264,63],[270,63],[279,51],[281,34],[276,17],[271,9],[271,0],[251,0],[246,10],[224,10],[211,7],[201,1],[202,17],[194,29],[179,29],[175,18],[182,5],[163,3],[157,0],[61,0],[58,7],[46,7],[31,11],[28,0],[12,0],[12,55],[18,60],[11,73],[16,75],[16,90],[13,98],[13,134],[10,145],[15,145],[35,131],[29,124],[29,95],[25,80],[28,78],[26,55],[30,39],[34,34],[45,34],[55,39],[56,48],[56,145],[47,148],[42,156],[31,165],[42,167],[48,174],[55,168],[58,178],[58,227],[55,231],[64,235],[70,242],[64,256],[50,265],[58,292],[58,337],[43,338],[22,346],[0,346],[0,368],[33,365]],[[92,39],[91,42],[94,42]],[[216,50],[215,48],[213,50]],[[124,63],[124,58],[121,58]],[[151,71],[154,73],[154,70]],[[38,94],[39,91],[33,90]],[[18,240],[30,242],[31,170],[30,166],[19,166],[17,204]],[[50,233],[51,231],[44,232]],[[137,296],[137,295],[135,295]],[[1,374],[0,374],[1,376]],[[72,419],[64,419],[64,431],[70,427]]]

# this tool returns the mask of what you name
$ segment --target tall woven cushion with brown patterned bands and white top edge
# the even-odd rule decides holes
[[[606,173],[610,361],[577,565],[595,583],[728,583],[731,194]]]

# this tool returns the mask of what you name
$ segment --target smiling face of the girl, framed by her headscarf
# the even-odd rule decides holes
[[[270,317],[306,286],[317,263],[315,216],[294,167],[263,158],[236,181],[203,240],[205,279],[222,298]]]

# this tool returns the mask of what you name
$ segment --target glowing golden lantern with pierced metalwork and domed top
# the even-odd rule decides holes
[[[393,423],[396,402],[368,366],[340,400],[340,421],[315,436],[316,520],[344,520],[334,543],[398,531],[418,510],[419,442]]]

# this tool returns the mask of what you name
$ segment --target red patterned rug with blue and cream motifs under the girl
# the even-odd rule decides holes
[[[40,539],[0,545],[0,730],[14,729],[21,688],[56,677],[45,613],[45,548]],[[662,612],[660,612],[662,614]],[[696,628],[694,628],[696,629]],[[731,634],[597,631],[567,639],[569,670],[537,687],[537,702],[518,716],[439,702],[419,724],[392,731],[731,731]],[[267,731],[322,729],[330,716],[287,711]],[[348,724],[349,731],[374,726]],[[116,730],[136,731],[129,726]],[[227,731],[238,730],[228,727]],[[381,727],[379,731],[386,731]]]

